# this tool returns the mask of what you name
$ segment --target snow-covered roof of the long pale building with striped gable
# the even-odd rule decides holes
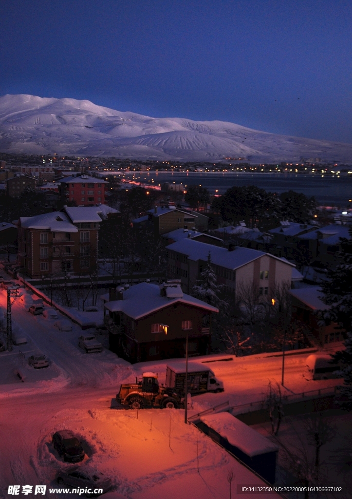
[[[281,260],[281,258],[278,258],[272,254],[264,253],[264,251],[241,247],[236,247],[235,250],[229,251],[226,248],[209,245],[207,243],[200,243],[199,241],[195,241],[193,239],[181,239],[180,241],[176,241],[176,243],[167,246],[167,249],[186,254],[188,258],[193,261],[207,261],[208,253],[210,252],[211,262],[214,265],[219,265],[231,270],[239,268],[250,261],[264,256],[265,254],[271,258]],[[294,266],[294,263],[285,263]]]

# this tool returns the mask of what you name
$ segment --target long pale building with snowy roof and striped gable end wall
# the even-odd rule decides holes
[[[190,291],[210,254],[219,284],[236,292],[239,285],[254,285],[261,295],[270,295],[277,285],[292,282],[295,264],[264,251],[229,245],[228,249],[182,239],[167,247],[170,275],[181,280],[182,289]]]

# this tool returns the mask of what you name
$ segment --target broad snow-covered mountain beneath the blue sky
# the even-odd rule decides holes
[[[224,121],[151,118],[88,100],[0,97],[0,151],[179,161],[352,162],[352,144],[275,135]]]

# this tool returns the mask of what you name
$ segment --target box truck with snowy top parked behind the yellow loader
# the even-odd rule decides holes
[[[190,394],[205,392],[223,392],[224,384],[217,379],[210,369],[201,362],[188,362],[187,392]],[[186,377],[185,361],[170,362],[166,366],[167,388],[172,388],[179,396],[184,395]]]

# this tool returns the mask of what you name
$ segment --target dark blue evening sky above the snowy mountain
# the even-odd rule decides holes
[[[352,142],[351,0],[0,0],[0,95]]]

